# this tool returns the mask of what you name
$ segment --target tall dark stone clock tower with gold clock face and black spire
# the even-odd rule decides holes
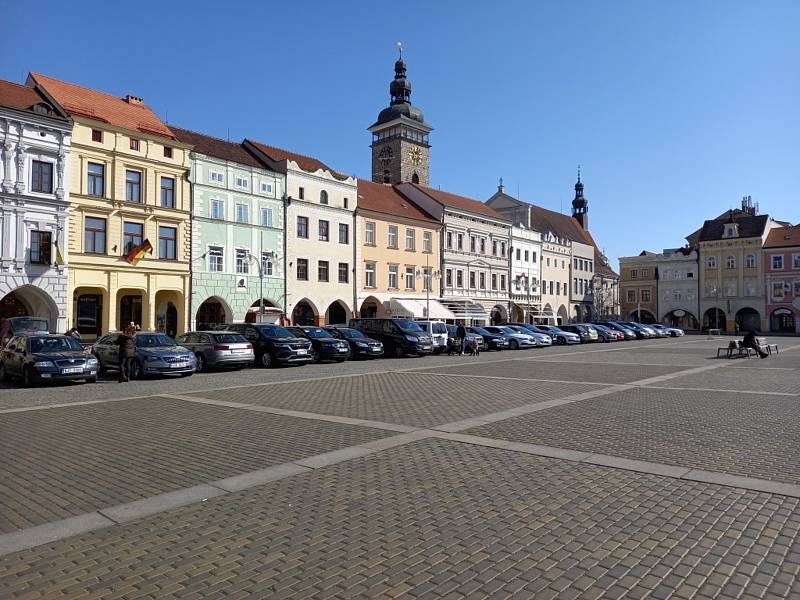
[[[411,82],[406,79],[403,48],[394,63],[389,84],[391,102],[369,128],[372,133],[372,181],[430,185],[430,144],[433,128],[422,111],[411,105]]]

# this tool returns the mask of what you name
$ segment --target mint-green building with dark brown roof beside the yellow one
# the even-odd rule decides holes
[[[171,127],[192,146],[193,329],[283,314],[286,189],[241,144]]]

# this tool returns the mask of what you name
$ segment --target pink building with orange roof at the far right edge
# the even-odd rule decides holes
[[[764,274],[770,331],[800,333],[800,225],[769,232]]]

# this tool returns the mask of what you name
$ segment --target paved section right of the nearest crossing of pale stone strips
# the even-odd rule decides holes
[[[464,433],[800,483],[798,408],[792,397],[634,388]]]

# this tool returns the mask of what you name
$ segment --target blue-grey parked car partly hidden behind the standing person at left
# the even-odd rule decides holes
[[[119,332],[109,333],[97,340],[91,352],[97,358],[100,372],[119,370]],[[168,335],[138,331],[133,336],[136,357],[131,363],[131,379],[148,375],[180,375],[188,377],[195,372],[197,360],[194,354],[179,346]]]

